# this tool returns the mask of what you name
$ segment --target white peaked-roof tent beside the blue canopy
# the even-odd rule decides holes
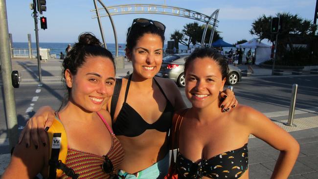
[[[236,45],[236,48],[255,48],[256,65],[271,59],[271,46],[261,43],[255,38],[246,43]]]

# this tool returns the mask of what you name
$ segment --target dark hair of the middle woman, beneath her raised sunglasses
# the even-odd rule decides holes
[[[131,30],[130,30],[131,29]],[[129,32],[130,31],[130,32]],[[127,36],[129,33],[129,36]],[[150,34],[157,34],[160,36],[162,40],[162,46],[164,43],[164,32],[159,30],[154,24],[150,23],[147,26],[141,26],[138,23],[134,23],[131,27],[127,30],[127,39],[126,39],[126,47],[132,51],[133,48],[136,46],[137,41],[146,33]]]

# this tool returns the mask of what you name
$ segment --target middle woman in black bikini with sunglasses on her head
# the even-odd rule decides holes
[[[132,61],[133,73],[117,79],[111,112],[114,133],[120,140],[125,159],[119,171],[126,179],[161,179],[169,167],[168,131],[176,110],[185,108],[177,85],[170,79],[155,77],[162,63],[165,26],[161,22],[135,19],[127,32],[126,56]],[[121,82],[121,83],[120,83]],[[119,83],[121,86],[119,86]],[[117,94],[117,95],[115,95]],[[226,90],[220,96],[224,112],[237,105],[233,92]],[[43,108],[27,124],[40,126],[41,141],[45,141],[43,124],[52,115],[50,108]],[[51,120],[45,124],[50,125]],[[25,134],[29,140],[29,131]],[[38,136],[32,133],[38,142]],[[23,142],[24,142],[23,141]]]

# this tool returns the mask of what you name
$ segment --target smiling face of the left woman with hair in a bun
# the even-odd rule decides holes
[[[89,56],[75,75],[67,69],[70,101],[88,112],[97,112],[114,92],[115,69],[109,58]]]

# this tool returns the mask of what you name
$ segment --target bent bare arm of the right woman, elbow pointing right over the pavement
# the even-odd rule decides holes
[[[285,130],[274,124],[261,112],[246,107],[246,121],[251,134],[280,151],[271,179],[287,179],[299,154],[299,144]]]

